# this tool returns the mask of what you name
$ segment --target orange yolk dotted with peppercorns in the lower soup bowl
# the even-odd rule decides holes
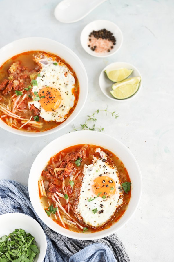
[[[92,190],[96,195],[102,192],[99,197],[103,195],[112,196],[116,192],[115,181],[109,176],[98,176],[93,180]]]

